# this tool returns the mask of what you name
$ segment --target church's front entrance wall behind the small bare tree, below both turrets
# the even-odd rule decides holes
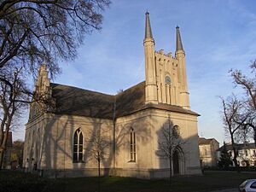
[[[194,115],[183,113],[172,113],[155,110],[152,116],[152,122],[154,130],[151,132],[154,136],[154,151],[159,150],[158,139],[160,138],[160,131],[163,126],[168,124],[169,117],[172,125],[178,125],[180,128],[180,136],[183,138],[183,169],[181,167],[181,174],[194,174],[201,173],[200,160],[199,160],[199,148],[198,148],[198,136],[197,136],[197,117]],[[160,160],[160,157],[154,155],[154,167],[155,168],[167,168],[167,164]]]

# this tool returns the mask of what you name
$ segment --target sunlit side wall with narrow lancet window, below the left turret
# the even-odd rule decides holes
[[[122,169],[152,168],[151,122],[148,111],[132,114],[116,121],[115,167]],[[136,135],[136,162],[130,158],[130,131]]]

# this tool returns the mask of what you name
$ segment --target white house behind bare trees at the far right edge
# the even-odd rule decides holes
[[[240,143],[235,145],[238,150],[237,163],[239,166],[256,166],[256,147],[254,143]],[[220,158],[224,146],[218,148],[217,156]],[[234,158],[234,150],[231,143],[226,143],[226,150],[230,154],[231,160]],[[235,166],[235,165],[233,165]]]

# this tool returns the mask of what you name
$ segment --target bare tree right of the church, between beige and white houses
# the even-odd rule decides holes
[[[226,100],[222,97],[220,97],[220,99],[222,101],[224,130],[231,139],[231,145],[234,151],[233,161],[235,163],[236,170],[239,171],[239,166],[236,160],[238,153],[236,143],[239,142],[241,138],[236,137],[236,135],[241,129],[242,124],[244,124],[247,120],[247,116],[242,115],[244,103],[239,101],[235,95],[228,97]]]

